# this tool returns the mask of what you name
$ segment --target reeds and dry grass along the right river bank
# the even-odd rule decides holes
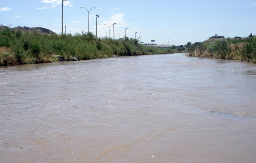
[[[188,46],[189,57],[211,57],[223,60],[243,60],[256,63],[256,37],[227,39],[212,44],[196,42]]]

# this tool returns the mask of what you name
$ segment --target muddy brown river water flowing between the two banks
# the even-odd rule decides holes
[[[0,68],[0,162],[252,163],[256,64],[167,54]]]

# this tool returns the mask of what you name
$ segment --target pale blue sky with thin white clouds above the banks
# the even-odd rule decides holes
[[[0,0],[0,24],[12,27],[44,27],[61,33],[62,0]],[[256,35],[256,0],[67,0],[63,24],[67,33],[89,31],[109,36],[115,25],[124,37],[141,36],[144,43],[181,45],[204,41],[214,34],[225,37]],[[64,28],[65,31],[65,28]],[[113,27],[110,28],[113,37]]]

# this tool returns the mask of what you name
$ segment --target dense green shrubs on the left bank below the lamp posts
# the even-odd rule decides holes
[[[75,36],[47,35],[15,31],[5,28],[0,31],[0,66],[58,61],[56,55],[72,60],[89,60],[124,55],[170,54],[174,51],[157,47],[145,47],[135,39],[122,41],[96,38],[92,33]]]

